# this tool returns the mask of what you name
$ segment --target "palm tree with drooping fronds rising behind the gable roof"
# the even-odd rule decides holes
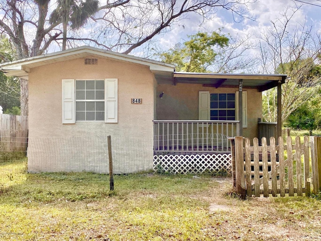
[[[98,0],[58,0],[57,8],[50,14],[50,24],[62,22],[63,43],[62,50],[66,49],[67,26],[71,23],[71,29],[80,29],[84,26],[89,17],[99,10]]]

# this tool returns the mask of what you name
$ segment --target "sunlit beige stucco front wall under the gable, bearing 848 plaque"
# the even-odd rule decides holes
[[[62,124],[62,79],[105,78],[118,79],[118,123]],[[116,173],[151,169],[154,85],[149,67],[114,59],[84,65],[79,58],[31,69],[28,170],[106,173],[108,135]],[[131,98],[142,98],[142,104]]]

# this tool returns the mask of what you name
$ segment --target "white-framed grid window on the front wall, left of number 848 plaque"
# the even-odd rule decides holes
[[[76,121],[105,121],[104,80],[76,80]]]

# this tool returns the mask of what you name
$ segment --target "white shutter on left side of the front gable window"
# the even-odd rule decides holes
[[[62,123],[75,123],[75,80],[62,80]]]

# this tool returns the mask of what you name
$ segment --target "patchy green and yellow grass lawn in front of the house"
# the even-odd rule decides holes
[[[230,178],[26,174],[0,163],[0,240],[320,240],[321,202],[227,195]],[[220,206],[221,205],[221,206]]]

